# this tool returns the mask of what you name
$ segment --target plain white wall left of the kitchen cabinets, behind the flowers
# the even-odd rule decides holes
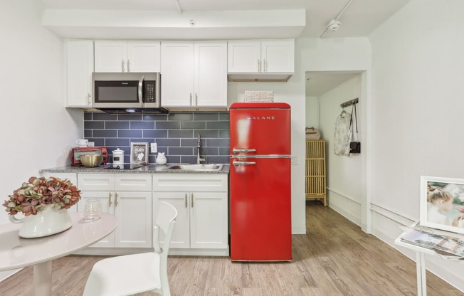
[[[41,27],[40,10],[35,0],[0,2],[4,200],[38,169],[66,164],[75,139],[83,137],[82,112],[63,107],[63,41]],[[6,221],[2,210],[0,223]]]

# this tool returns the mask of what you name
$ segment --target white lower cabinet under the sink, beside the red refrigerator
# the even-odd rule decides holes
[[[177,209],[169,253],[228,255],[226,174],[154,174],[154,218],[158,203]]]

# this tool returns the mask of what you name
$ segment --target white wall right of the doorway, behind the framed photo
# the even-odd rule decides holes
[[[461,0],[412,0],[369,36],[372,227],[387,243],[418,220],[421,175],[464,179],[463,11]],[[427,265],[464,291],[463,264]]]

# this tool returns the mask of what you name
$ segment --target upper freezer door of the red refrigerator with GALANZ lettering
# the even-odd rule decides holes
[[[231,109],[230,133],[231,155],[290,154],[290,109]]]

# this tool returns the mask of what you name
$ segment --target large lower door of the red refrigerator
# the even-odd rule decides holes
[[[292,259],[289,158],[231,162],[231,260]]]

